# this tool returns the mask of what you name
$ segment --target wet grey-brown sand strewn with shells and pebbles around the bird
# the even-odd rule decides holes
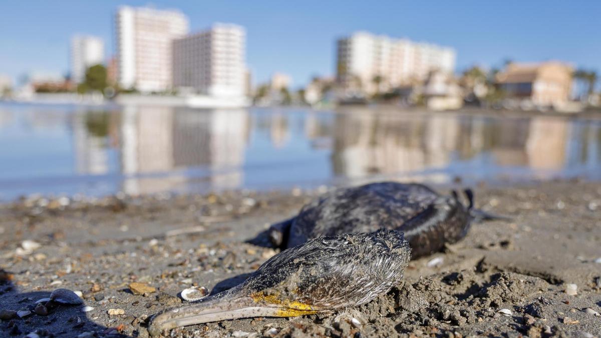
[[[481,186],[475,192],[477,206],[513,221],[475,224],[444,253],[410,262],[404,282],[371,303],[331,315],[194,325],[169,336],[601,336],[601,317],[594,314],[601,312],[601,183]],[[147,336],[148,317],[181,304],[181,290],[226,289],[275,254],[261,232],[317,194],[237,191],[4,204],[0,336]],[[134,294],[132,282],[151,289]],[[566,293],[567,284],[576,284],[576,295]],[[37,315],[35,301],[58,288],[81,291],[93,309],[60,306]],[[123,315],[109,315],[109,309]],[[11,319],[10,310],[32,314]]]

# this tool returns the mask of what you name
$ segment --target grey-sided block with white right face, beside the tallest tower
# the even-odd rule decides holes
[[[173,43],[173,84],[218,97],[246,95],[246,32],[217,23]]]

